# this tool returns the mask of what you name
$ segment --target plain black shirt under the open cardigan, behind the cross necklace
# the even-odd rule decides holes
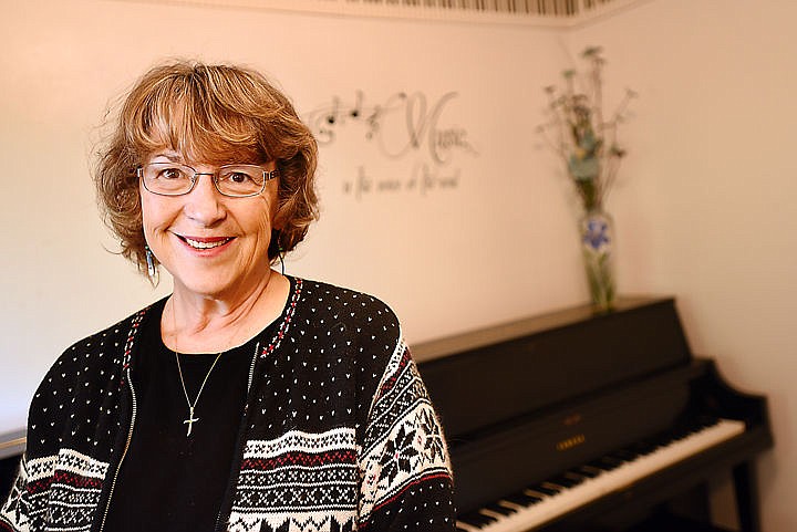
[[[187,436],[188,404],[175,353],[161,337],[162,313],[158,303],[142,325],[142,343],[133,355],[136,419],[111,500],[107,532],[213,531],[238,455],[255,340],[221,354]],[[217,355],[177,355],[192,403]]]

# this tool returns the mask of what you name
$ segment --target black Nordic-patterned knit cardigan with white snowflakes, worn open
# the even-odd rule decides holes
[[[135,430],[130,376],[147,311],[77,342],[44,377],[0,531],[103,530]],[[252,353],[217,530],[454,530],[445,441],[393,312],[292,278],[278,320]]]

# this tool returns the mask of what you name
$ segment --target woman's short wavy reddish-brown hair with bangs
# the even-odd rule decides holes
[[[276,161],[271,262],[318,219],[318,144],[288,97],[251,69],[187,61],[155,66],[130,91],[111,127],[93,176],[97,202],[122,255],[141,272],[147,264],[136,168],[159,149],[216,165]]]

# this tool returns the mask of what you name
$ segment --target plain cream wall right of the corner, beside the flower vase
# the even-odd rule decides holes
[[[795,20],[786,0],[656,0],[569,41],[641,93],[610,202],[622,290],[675,294],[693,348],[769,398],[767,532],[797,530]]]

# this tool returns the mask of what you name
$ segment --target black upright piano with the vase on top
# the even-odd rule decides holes
[[[766,399],[693,356],[672,299],[625,299],[412,346],[446,430],[467,532],[716,531],[732,474],[759,531]]]

